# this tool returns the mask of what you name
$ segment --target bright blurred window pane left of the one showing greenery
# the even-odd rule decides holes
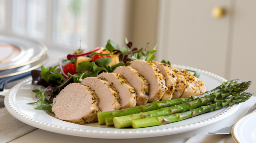
[[[46,1],[13,0],[12,30],[31,37],[43,38],[45,35]]]

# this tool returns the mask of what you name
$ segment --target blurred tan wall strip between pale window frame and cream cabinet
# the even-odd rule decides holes
[[[156,24],[158,1],[133,0],[132,4],[132,39],[137,48],[152,49],[156,45]]]

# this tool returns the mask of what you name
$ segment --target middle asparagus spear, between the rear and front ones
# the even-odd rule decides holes
[[[199,99],[189,101],[180,105],[165,107],[165,108],[161,108],[154,111],[142,112],[142,113],[128,115],[128,116],[115,117],[113,118],[113,122],[116,128],[124,128],[124,127],[132,126],[132,120],[159,117],[159,116],[165,116],[165,115],[174,114],[174,113],[185,112],[185,111],[203,106],[204,104],[213,102],[214,100],[220,100],[230,95],[237,95],[237,94],[239,95],[241,92],[248,89],[250,84],[251,82],[242,82],[232,87],[221,89],[219,92],[214,92],[209,96],[204,96]]]

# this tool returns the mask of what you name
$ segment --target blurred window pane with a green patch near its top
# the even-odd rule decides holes
[[[89,0],[56,0],[53,18],[53,41],[87,48]]]

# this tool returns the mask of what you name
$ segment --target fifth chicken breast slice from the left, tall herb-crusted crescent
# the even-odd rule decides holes
[[[144,78],[149,82],[148,102],[159,101],[167,87],[165,86],[164,76],[156,65],[144,60],[135,60],[129,66],[135,68],[141,75],[144,75]]]

